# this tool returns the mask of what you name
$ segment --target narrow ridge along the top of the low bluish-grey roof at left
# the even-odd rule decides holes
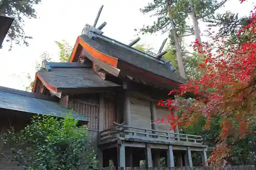
[[[4,86],[0,86],[0,91],[18,94],[18,95],[24,95],[24,96],[28,96],[28,97],[36,98],[36,99],[42,99],[42,100],[56,102],[56,98],[54,98],[52,96],[42,95],[42,94],[38,94],[38,93],[33,93],[33,92],[29,92],[29,91],[24,91],[24,90],[18,90],[18,89],[4,87]]]

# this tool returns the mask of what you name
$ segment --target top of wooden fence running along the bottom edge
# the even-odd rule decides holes
[[[118,167],[118,170],[255,170],[254,165],[238,165],[226,167]],[[95,169],[96,170],[96,169]],[[101,170],[116,170],[116,167],[103,167]]]

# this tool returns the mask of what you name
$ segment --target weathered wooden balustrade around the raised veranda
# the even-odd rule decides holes
[[[159,131],[153,129],[144,129],[139,127],[131,127],[123,124],[117,124],[115,128],[106,129],[100,132],[100,141],[115,139],[118,137],[129,137],[136,138],[141,140],[157,140],[157,141],[166,141],[169,140],[178,140],[183,142],[194,142],[202,143],[202,136],[198,135],[188,135],[182,133],[174,133],[168,131]]]

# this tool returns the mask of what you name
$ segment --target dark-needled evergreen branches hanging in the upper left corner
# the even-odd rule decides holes
[[[36,18],[34,5],[37,5],[41,0],[0,0],[0,15],[13,17],[14,21],[6,36],[6,41],[10,42],[10,50],[15,44],[29,45],[27,36],[24,31],[24,18]]]

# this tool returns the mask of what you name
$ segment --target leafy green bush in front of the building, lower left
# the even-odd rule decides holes
[[[4,135],[4,142],[12,147],[12,154],[4,156],[26,170],[96,168],[88,129],[77,123],[72,115],[63,119],[34,116],[25,129],[10,129]]]

